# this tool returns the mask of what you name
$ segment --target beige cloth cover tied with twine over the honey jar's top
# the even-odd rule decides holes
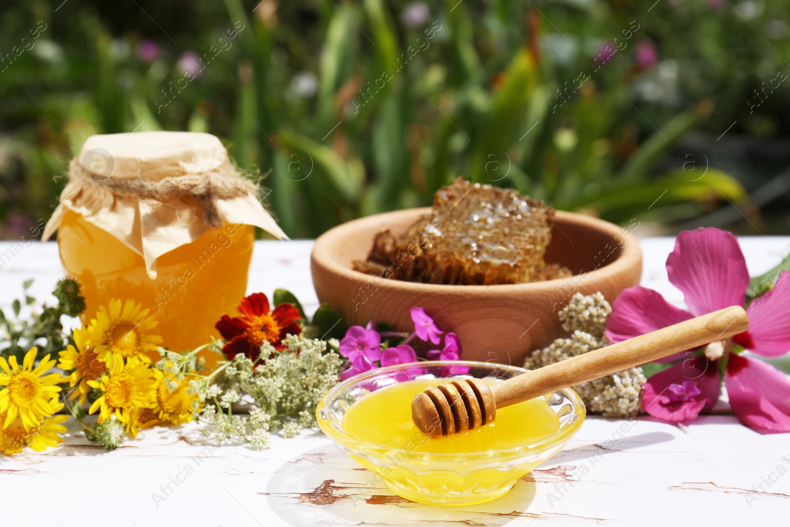
[[[261,205],[258,187],[239,175],[211,134],[88,137],[71,160],[69,183],[43,239],[69,209],[141,254],[151,278],[156,278],[156,258],[213,227],[255,225],[274,238],[288,238]]]

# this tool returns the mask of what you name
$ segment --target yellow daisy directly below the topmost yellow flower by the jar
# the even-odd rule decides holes
[[[156,377],[149,365],[137,356],[124,363],[122,356],[115,354],[111,357],[110,373],[102,375],[99,381],[88,381],[88,386],[102,391],[88,413],[100,409],[100,423],[115,415],[133,436],[137,435],[138,427],[131,412],[134,408],[153,408],[156,405]]]

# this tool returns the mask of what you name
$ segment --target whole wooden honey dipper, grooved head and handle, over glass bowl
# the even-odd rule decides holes
[[[436,387],[428,386],[412,401],[412,419],[431,438],[465,432],[491,423],[497,408],[698,348],[748,328],[749,318],[743,307],[725,307],[492,386],[480,378],[458,378]]]

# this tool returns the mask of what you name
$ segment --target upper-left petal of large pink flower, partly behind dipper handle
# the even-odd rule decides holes
[[[623,289],[611,304],[611,316],[606,323],[606,338],[612,343],[627,341],[689,318],[694,317],[688,311],[668,303],[659,292],[635,285],[633,288]],[[675,353],[658,362],[672,362],[686,356],[684,353]]]

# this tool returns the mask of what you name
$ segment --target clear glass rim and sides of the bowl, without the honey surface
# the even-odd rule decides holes
[[[465,373],[454,374],[458,371]],[[363,397],[397,382],[426,378],[441,382],[439,379],[443,378],[472,377],[499,382],[525,371],[520,367],[465,360],[378,368],[348,378],[329,390],[316,408],[318,426],[347,450],[352,459],[382,476],[387,487],[405,499],[442,506],[484,503],[510,491],[518,480],[559,452],[578,431],[585,418],[585,405],[574,390],[566,388],[544,396],[559,419],[559,430],[529,444],[471,454],[420,452],[419,438],[400,450],[366,442],[344,430],[343,417]],[[427,437],[423,435],[423,439]]]

